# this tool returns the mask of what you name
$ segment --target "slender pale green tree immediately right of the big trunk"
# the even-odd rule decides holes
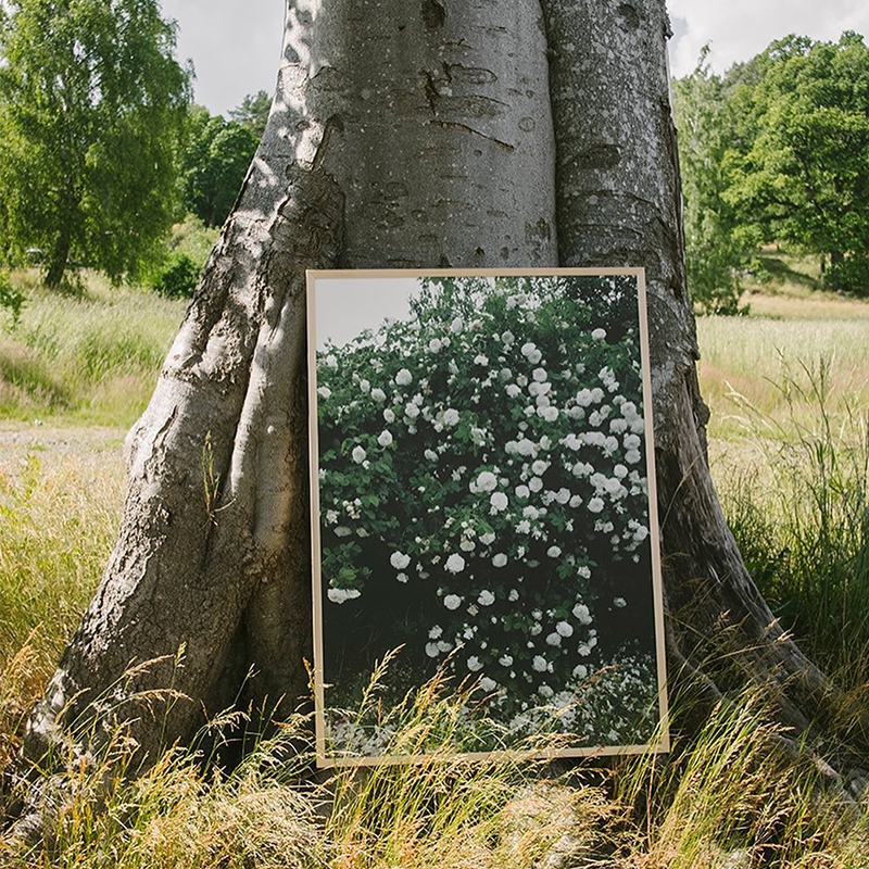
[[[725,199],[723,159],[732,123],[720,76],[705,63],[708,47],[691,75],[673,81],[679,160],[684,203],[688,286],[695,307],[707,314],[738,314],[738,272],[744,260],[743,235],[733,206]]]

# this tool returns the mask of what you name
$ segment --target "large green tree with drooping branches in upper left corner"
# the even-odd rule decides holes
[[[156,0],[10,0],[0,22],[3,253],[137,274],[176,213],[190,98]]]

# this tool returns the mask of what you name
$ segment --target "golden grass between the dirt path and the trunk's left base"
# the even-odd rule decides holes
[[[0,767],[92,594],[121,507],[119,444],[0,462]],[[108,457],[108,461],[106,461]]]

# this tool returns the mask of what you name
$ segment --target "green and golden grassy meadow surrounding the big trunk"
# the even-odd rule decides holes
[[[185,311],[97,278],[76,297],[13,278],[28,303],[0,331],[0,767],[99,581],[124,436]],[[748,316],[697,323],[713,471],[756,581],[857,720],[869,711],[869,303],[793,274],[748,301]],[[461,704],[432,688],[405,727],[454,720]],[[118,740],[68,771],[51,841],[24,851],[0,832],[0,867],[869,866],[865,807],[821,797],[810,752],[783,756],[758,692],[725,697],[700,733],[682,735],[681,715],[666,759],[441,759],[317,783],[304,720],[231,772],[189,748],[125,780]],[[11,798],[0,785],[0,808]]]

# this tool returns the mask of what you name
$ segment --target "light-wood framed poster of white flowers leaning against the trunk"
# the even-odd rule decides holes
[[[436,673],[468,756],[667,751],[642,269],[307,281],[318,764]]]

